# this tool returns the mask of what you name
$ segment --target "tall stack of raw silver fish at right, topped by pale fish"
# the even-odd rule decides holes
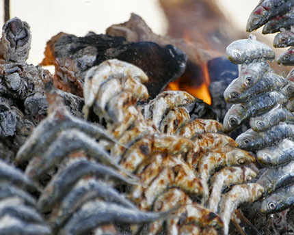
[[[293,71],[286,78],[275,74],[266,62],[273,59],[273,51],[253,36],[232,42],[226,52],[239,64],[239,78],[224,92],[226,101],[234,103],[224,118],[224,131],[250,120],[251,128],[236,141],[240,148],[256,152],[258,163],[267,168],[256,181],[265,188],[260,210],[279,212],[293,204]]]

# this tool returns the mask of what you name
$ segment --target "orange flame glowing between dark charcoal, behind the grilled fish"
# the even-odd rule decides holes
[[[192,96],[200,98],[207,104],[211,105],[211,95],[209,94],[209,70],[207,65],[199,66],[198,70],[193,71],[194,74],[188,74],[193,77],[180,77],[178,80],[169,84],[172,90],[182,90],[188,92]]]

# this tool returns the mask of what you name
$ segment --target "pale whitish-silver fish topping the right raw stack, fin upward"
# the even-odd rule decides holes
[[[240,39],[232,42],[226,48],[228,59],[234,64],[249,63],[256,59],[271,60],[275,53],[267,44],[256,40],[256,36],[250,34],[248,39]]]

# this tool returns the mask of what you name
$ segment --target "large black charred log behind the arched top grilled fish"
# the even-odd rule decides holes
[[[122,37],[94,34],[64,36],[54,44],[55,87],[83,96],[85,73],[106,59],[120,59],[138,66],[149,77],[146,85],[155,98],[170,81],[185,71],[187,55],[172,45],[154,42],[126,42]]]

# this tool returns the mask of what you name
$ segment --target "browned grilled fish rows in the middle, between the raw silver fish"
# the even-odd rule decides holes
[[[92,107],[99,118],[107,122],[107,130],[118,143],[109,145],[109,141],[105,141],[106,148],[120,167],[141,180],[142,185],[131,186],[129,198],[141,210],[161,211],[185,202],[174,212],[177,218],[168,219],[168,234],[181,233],[184,228],[186,231],[192,222],[196,225],[189,225],[189,230],[201,231],[209,226],[219,229],[224,224],[224,232],[228,234],[228,223],[235,208],[240,203],[253,202],[263,193],[258,184],[244,184],[256,176],[255,172],[248,167],[237,167],[251,163],[254,158],[236,148],[235,141],[219,134],[222,125],[218,122],[190,120],[185,105],[194,98],[186,92],[162,92],[142,106],[137,105],[137,100],[142,102],[148,96],[140,93],[145,94],[145,89],[139,85],[140,89],[122,85],[115,94],[109,93],[107,84],[113,83],[112,80],[117,79],[116,83],[122,84],[136,76],[138,83],[143,81],[141,70],[133,66],[129,71],[130,65],[124,64],[109,60],[88,72],[84,111],[87,114]],[[122,70],[123,66],[126,70]],[[111,70],[112,76],[105,77],[97,72],[102,70]],[[92,97],[91,102],[87,101],[87,96]],[[226,180],[228,175],[230,179]],[[212,181],[212,176],[217,180]],[[234,184],[239,185],[222,194]],[[192,203],[189,195],[198,198],[197,202]],[[186,199],[181,199],[183,197]],[[159,202],[164,206],[155,206]],[[228,204],[230,206],[226,207]],[[180,219],[184,215],[185,220]],[[163,221],[158,221],[143,230],[157,234],[162,225]]]

